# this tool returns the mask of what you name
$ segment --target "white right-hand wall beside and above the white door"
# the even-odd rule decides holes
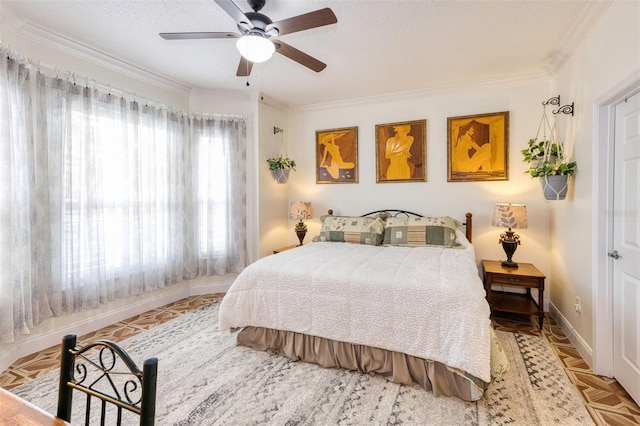
[[[606,285],[594,274],[606,258],[596,246],[597,217],[606,209],[597,193],[606,179],[598,154],[606,152],[601,144],[607,143],[597,134],[597,100],[633,78],[640,78],[640,2],[614,1],[552,81],[554,93],[575,102],[574,129],[565,128],[564,134],[575,142],[578,170],[573,193],[552,209],[551,300],[575,329],[574,343],[587,361],[596,343],[594,308],[601,302],[592,296]],[[582,301],[580,314],[573,307],[576,296]]]

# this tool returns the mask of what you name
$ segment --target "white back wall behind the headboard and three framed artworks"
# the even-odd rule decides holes
[[[503,230],[491,227],[496,202],[526,203],[529,228],[518,230],[522,245],[514,260],[534,263],[553,286],[548,250],[551,203],[540,184],[523,172],[521,149],[534,137],[548,99],[546,78],[464,85],[385,97],[357,99],[292,111],[289,117],[290,154],[299,164],[290,179],[289,199],[313,203],[314,219],[307,221],[309,236],[320,228],[319,216],[327,209],[336,214],[360,215],[383,208],[399,208],[426,215],[450,215],[464,219],[474,215],[473,242],[478,262],[503,259],[498,237]],[[509,180],[447,182],[447,117],[510,112]],[[375,125],[427,120],[427,182],[376,183]],[[316,184],[315,131],[358,126],[357,184]],[[293,222],[289,228],[293,229]],[[289,244],[295,235],[289,234]],[[310,237],[307,237],[310,238]],[[550,292],[545,292],[548,302]]]

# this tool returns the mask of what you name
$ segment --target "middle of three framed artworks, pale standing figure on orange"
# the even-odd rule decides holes
[[[376,124],[376,182],[426,182],[427,120]]]

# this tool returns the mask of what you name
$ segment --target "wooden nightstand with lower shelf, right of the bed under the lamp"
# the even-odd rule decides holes
[[[538,323],[542,330],[544,321],[544,279],[542,272],[531,263],[518,262],[517,268],[507,268],[497,260],[483,260],[484,289],[491,312],[511,312],[515,314],[538,314]],[[525,294],[492,291],[492,285],[502,285],[526,289]],[[538,289],[538,302],[531,297],[531,289]]]

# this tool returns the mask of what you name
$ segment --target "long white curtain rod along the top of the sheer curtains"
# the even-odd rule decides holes
[[[114,88],[112,87],[110,84],[107,83],[101,83],[98,82],[96,79],[94,78],[89,78],[86,76],[80,76],[72,71],[69,70],[60,70],[58,67],[51,67],[51,66],[47,66],[47,65],[42,65],[40,64],[40,61],[29,58],[29,57],[25,57],[24,55],[22,55],[20,52],[18,52],[17,50],[13,49],[11,46],[9,46],[8,44],[0,41],[0,53],[3,55],[6,55],[7,58],[9,59],[13,59],[16,61],[20,61],[22,62],[25,66],[27,66],[30,69],[36,69],[36,71],[38,73],[41,73],[45,76],[48,77],[54,77],[57,79],[64,79],[68,82],[73,82],[73,84],[80,84],[82,85],[82,82],[84,81],[84,87],[87,88],[91,88],[94,90],[98,90],[98,91],[102,91],[105,94],[109,94],[109,95],[113,95],[113,96],[120,96],[121,98],[129,101],[129,102],[137,102],[139,104],[144,104],[144,105],[148,105],[148,106],[152,106],[161,110],[165,110],[167,112],[171,112],[171,113],[175,113],[175,114],[182,114],[183,116],[187,116],[189,118],[214,118],[214,119],[220,119],[220,120],[227,120],[227,121],[246,121],[247,120],[247,116],[246,115],[240,115],[240,114],[225,114],[225,113],[193,113],[190,111],[187,111],[183,108],[178,108],[178,107],[174,107],[171,105],[168,105],[164,102],[159,102],[156,101],[154,99],[151,98],[146,98],[143,96],[138,95],[135,92],[129,92],[126,91],[124,89],[118,89],[118,88]],[[43,70],[46,70],[43,71]],[[61,76],[62,74],[62,76]],[[89,83],[92,83],[90,87]],[[115,93],[113,93],[115,92]]]

